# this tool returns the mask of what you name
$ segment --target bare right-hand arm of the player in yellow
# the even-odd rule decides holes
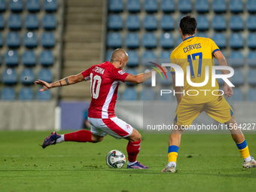
[[[224,55],[221,53],[221,51],[215,51],[215,53],[213,53],[213,56],[215,56],[215,59],[217,59],[218,64],[220,66],[227,66],[227,61]],[[228,74],[229,72],[227,70],[221,70],[221,73],[225,75],[225,74]],[[227,79],[230,81],[230,78],[227,78]],[[224,83],[223,91],[226,97],[230,97],[233,95],[232,87],[230,87],[226,82]]]

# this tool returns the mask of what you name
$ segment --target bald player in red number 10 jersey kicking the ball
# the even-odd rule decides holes
[[[115,139],[127,139],[128,163],[127,169],[148,169],[148,166],[137,162],[139,154],[141,135],[133,126],[120,120],[114,114],[114,105],[117,101],[117,89],[120,81],[140,84],[151,78],[151,72],[139,75],[131,75],[123,72],[123,67],[128,62],[128,54],[123,49],[114,50],[110,62],[103,62],[90,69],[72,75],[68,78],[48,84],[45,81],[35,81],[35,84],[43,85],[39,91],[49,90],[53,87],[62,87],[69,84],[76,84],[81,81],[90,80],[91,103],[88,110],[88,120],[91,130],[79,130],[74,133],[67,133],[59,136],[53,132],[44,139],[42,148],[48,145],[55,145],[60,142],[101,142],[107,134]],[[164,68],[164,67],[163,67]],[[164,68],[164,70],[166,70]]]

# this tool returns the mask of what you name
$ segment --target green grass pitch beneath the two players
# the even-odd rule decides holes
[[[60,132],[64,133],[64,132]],[[67,132],[65,132],[67,133]],[[160,172],[167,163],[168,135],[142,134],[138,160],[151,169],[110,169],[105,155],[126,154],[127,141],[63,142],[42,149],[47,132],[0,132],[0,191],[254,191],[256,169],[242,169],[230,135],[181,138],[177,173]],[[255,135],[246,135],[256,156]],[[126,155],[127,157],[127,155]]]

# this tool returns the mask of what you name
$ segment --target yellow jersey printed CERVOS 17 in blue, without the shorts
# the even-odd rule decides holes
[[[183,90],[185,93],[184,96],[182,96],[183,100],[194,104],[200,104],[214,99],[212,91],[219,90],[219,86],[218,82],[215,81],[215,87],[212,87],[212,66],[214,66],[213,53],[218,50],[220,49],[212,39],[190,36],[189,38],[184,39],[184,41],[172,51],[171,63],[181,66],[184,72]],[[190,86],[190,84],[187,83],[187,66],[190,66],[190,81],[193,83],[202,83],[205,81],[207,75],[206,66],[209,66],[208,83],[203,87]],[[171,73],[175,73],[173,68]],[[187,92],[187,90],[189,90],[189,92]],[[219,93],[218,91],[215,91],[214,94],[217,95]]]

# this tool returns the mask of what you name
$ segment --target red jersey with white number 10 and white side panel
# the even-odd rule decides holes
[[[115,117],[114,105],[117,102],[119,81],[125,80],[127,73],[115,68],[110,62],[103,62],[82,72],[84,79],[90,80],[92,101],[88,117],[107,119]]]

